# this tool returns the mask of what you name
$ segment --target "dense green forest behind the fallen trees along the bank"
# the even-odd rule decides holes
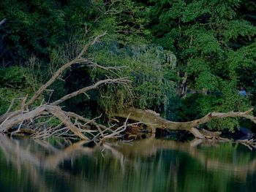
[[[221,112],[202,120],[211,131],[254,126],[255,1],[1,0],[0,20],[0,131],[11,111],[47,104],[72,123],[100,116],[98,131],[131,107],[178,122]],[[58,117],[40,111],[31,127],[60,128]]]

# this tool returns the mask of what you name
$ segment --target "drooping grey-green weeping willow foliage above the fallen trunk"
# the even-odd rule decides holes
[[[176,56],[157,45],[129,45],[117,42],[97,44],[90,53],[102,66],[121,66],[118,72],[94,70],[94,80],[102,76],[127,77],[131,86],[107,85],[99,90],[99,105],[111,114],[122,107],[140,107],[162,112],[165,118],[175,118]]]

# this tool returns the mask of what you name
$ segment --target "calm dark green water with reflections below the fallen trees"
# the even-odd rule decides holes
[[[256,153],[162,139],[71,144],[0,135],[0,191],[256,191]]]

